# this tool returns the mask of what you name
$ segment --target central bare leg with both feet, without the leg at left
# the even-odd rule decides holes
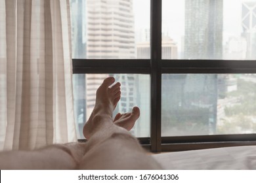
[[[131,114],[119,114],[113,121],[112,112],[119,100],[109,88],[113,83],[114,78],[106,78],[97,90],[91,120],[83,130],[89,139],[88,151],[79,169],[161,169],[128,131],[139,118],[139,108]]]

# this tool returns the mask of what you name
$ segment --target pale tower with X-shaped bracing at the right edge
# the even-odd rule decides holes
[[[246,59],[256,59],[256,2],[242,3],[242,37],[247,41]]]

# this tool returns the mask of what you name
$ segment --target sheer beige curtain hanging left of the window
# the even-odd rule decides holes
[[[0,150],[76,141],[69,0],[0,0]]]

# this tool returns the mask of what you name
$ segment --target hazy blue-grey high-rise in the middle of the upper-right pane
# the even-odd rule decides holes
[[[223,0],[187,0],[185,6],[185,59],[222,59]]]

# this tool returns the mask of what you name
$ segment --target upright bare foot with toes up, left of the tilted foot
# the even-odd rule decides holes
[[[93,118],[95,117],[95,114],[104,114],[112,118],[112,113],[121,97],[121,84],[119,82],[114,84],[114,82],[115,78],[108,77],[104,79],[103,83],[96,91],[95,108],[93,109],[89,120],[83,127],[83,135],[86,139],[90,139],[93,129],[95,128],[93,126]],[[114,85],[111,86],[112,84]]]

